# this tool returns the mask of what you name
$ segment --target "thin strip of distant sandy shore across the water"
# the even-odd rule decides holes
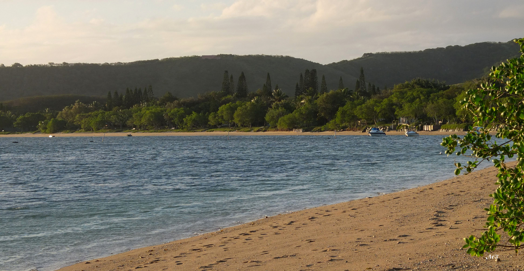
[[[420,135],[463,135],[465,132],[443,132],[443,131],[419,131]],[[129,132],[107,132],[105,137],[125,137]],[[131,132],[133,137],[160,137],[160,136],[202,136],[202,135],[227,135],[227,132]],[[0,134],[0,138],[46,138],[49,135],[55,137],[103,137],[102,132],[74,132],[74,133],[21,133],[21,134]],[[276,131],[276,132],[230,132],[230,136],[238,135],[334,135],[333,131],[329,132],[292,132],[292,131]],[[343,131],[337,132],[336,135],[368,135],[363,132]],[[405,135],[404,132],[391,131],[386,132],[386,135]]]

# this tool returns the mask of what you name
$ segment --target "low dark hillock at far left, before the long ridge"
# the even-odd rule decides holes
[[[93,101],[105,104],[106,98],[71,94],[35,96],[3,101],[2,106],[17,114],[25,114],[26,112],[45,111],[47,108],[59,111],[66,106],[74,104],[77,100],[84,104],[91,104]]]

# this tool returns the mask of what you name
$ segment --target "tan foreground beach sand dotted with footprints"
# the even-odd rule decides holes
[[[462,238],[483,231],[495,179],[489,167],[59,270],[522,270],[524,260],[514,251],[491,253],[499,255],[496,262],[461,249]]]

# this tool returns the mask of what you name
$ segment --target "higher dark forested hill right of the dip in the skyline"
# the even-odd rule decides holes
[[[366,53],[358,59],[326,66],[345,74],[358,74],[364,67],[366,81],[377,86],[391,86],[416,77],[434,78],[451,85],[482,77],[491,66],[519,54],[519,46],[513,41],[480,42],[423,51]]]

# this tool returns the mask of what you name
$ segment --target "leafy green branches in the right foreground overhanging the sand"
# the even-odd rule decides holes
[[[497,247],[514,249],[524,241],[524,39],[514,40],[521,55],[498,67],[493,66],[490,80],[469,89],[461,101],[464,110],[473,116],[478,127],[498,127],[496,139],[484,128],[471,130],[464,137],[444,138],[446,154],[465,155],[474,161],[456,163],[455,174],[472,172],[481,162],[492,160],[498,169],[498,188],[490,197],[493,204],[486,208],[486,231],[481,236],[464,238],[467,253],[482,256]],[[498,142],[497,142],[498,141]],[[456,152],[455,152],[456,151]],[[517,158],[509,167],[506,158]]]

